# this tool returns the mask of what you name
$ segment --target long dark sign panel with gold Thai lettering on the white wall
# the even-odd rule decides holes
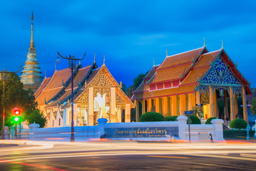
[[[178,137],[176,127],[145,127],[145,128],[105,128],[106,138],[165,138],[166,135]],[[166,135],[165,135],[166,133]]]

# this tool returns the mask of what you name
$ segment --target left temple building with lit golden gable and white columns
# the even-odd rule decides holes
[[[130,108],[135,105],[121,90],[105,63],[95,62],[73,73],[73,120],[75,126],[96,125],[98,118],[109,123],[130,122]],[[71,126],[71,70],[65,68],[45,77],[34,93],[39,109],[47,116],[46,127]]]

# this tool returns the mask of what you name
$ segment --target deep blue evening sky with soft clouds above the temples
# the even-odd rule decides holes
[[[256,1],[2,1],[0,70],[24,66],[34,11],[34,42],[42,75],[51,76],[57,51],[106,66],[118,82],[133,82],[168,55],[205,45],[224,49],[256,84]],[[61,60],[57,69],[68,67]],[[20,73],[19,73],[20,74]]]

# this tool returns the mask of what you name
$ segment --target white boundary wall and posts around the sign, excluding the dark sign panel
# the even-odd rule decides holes
[[[175,137],[178,140],[189,140],[188,133],[188,118],[184,115],[178,117],[178,121],[164,121],[164,122],[141,122],[141,123],[107,123],[105,118],[98,119],[98,125],[96,126],[81,126],[74,127],[75,140],[76,141],[88,141],[98,140],[101,135],[107,134],[106,130],[109,128],[168,128],[178,127],[179,137]],[[190,138],[192,142],[210,142],[209,134],[213,135],[213,141],[225,141],[223,139],[222,123],[223,120],[212,120],[213,124],[192,124],[190,125]],[[10,133],[11,132],[11,133]],[[9,134],[10,133],[10,134]],[[14,129],[11,131],[6,130],[6,140],[14,139]],[[29,125],[29,129],[23,129],[21,131],[22,140],[59,140],[69,141],[71,138],[71,127],[59,127],[59,128],[39,128],[38,124]],[[107,136],[108,138],[108,136]],[[111,138],[113,140],[169,140],[168,137],[160,138]]]

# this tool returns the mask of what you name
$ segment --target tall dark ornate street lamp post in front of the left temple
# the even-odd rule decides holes
[[[61,53],[58,52],[58,55],[61,56]],[[86,57],[86,53],[84,53],[83,58]],[[76,61],[81,61],[83,58],[75,58],[73,55],[69,55],[69,57],[61,56],[61,58],[68,59],[68,68],[71,69],[71,138],[70,141],[74,142],[74,129],[73,129],[73,69],[76,68]],[[57,58],[56,62],[59,63],[60,59]]]

